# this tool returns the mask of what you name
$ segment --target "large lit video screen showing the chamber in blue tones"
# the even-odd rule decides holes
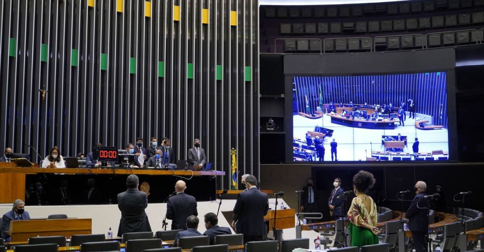
[[[293,161],[448,160],[446,77],[294,77]]]

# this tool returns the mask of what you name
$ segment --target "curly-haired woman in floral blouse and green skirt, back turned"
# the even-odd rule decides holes
[[[351,246],[365,246],[378,244],[377,234],[380,229],[377,224],[377,205],[373,199],[366,195],[375,184],[373,174],[368,171],[359,171],[353,177],[353,191],[356,195],[348,210],[349,234]]]

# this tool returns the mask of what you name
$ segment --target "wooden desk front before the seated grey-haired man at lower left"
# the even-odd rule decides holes
[[[22,220],[10,222],[12,242],[24,242],[30,237],[74,234],[91,234],[91,219]]]

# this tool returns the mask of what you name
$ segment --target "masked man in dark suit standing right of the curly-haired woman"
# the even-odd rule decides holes
[[[405,218],[408,219],[408,229],[412,232],[413,244],[415,252],[426,251],[425,235],[428,229],[429,219],[427,217],[428,200],[425,198],[425,191],[427,184],[423,181],[415,183],[415,198],[413,198],[410,207],[405,213]]]

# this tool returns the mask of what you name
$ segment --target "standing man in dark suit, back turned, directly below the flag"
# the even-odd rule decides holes
[[[237,196],[233,207],[235,232],[244,234],[244,243],[261,241],[267,235],[264,216],[269,210],[269,198],[256,187],[257,178],[254,175],[246,177],[248,190]]]

